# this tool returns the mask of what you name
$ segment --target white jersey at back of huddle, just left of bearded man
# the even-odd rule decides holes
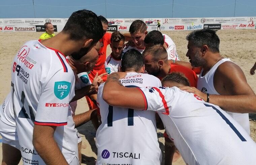
[[[172,41],[172,39],[166,34],[163,34],[163,37],[164,37],[164,43],[167,46],[166,51],[168,54],[168,60],[180,61],[180,58],[176,50],[176,46]]]

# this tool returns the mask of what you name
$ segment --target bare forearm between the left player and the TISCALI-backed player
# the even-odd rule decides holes
[[[97,116],[96,109],[89,110],[84,113],[74,115],[73,121],[75,123],[75,128],[89,122],[94,116]]]

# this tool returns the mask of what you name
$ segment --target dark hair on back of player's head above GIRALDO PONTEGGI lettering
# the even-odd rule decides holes
[[[143,65],[143,57],[141,53],[135,49],[128,50],[122,56],[121,67],[123,72],[131,69],[137,72]]]

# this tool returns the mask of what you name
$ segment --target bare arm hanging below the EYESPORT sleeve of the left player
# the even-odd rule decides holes
[[[56,126],[41,126],[35,125],[33,131],[33,145],[43,159],[45,164],[55,165],[63,164],[67,165],[67,161],[60,151],[60,148],[54,140],[54,132]],[[46,145],[45,145],[46,144]]]

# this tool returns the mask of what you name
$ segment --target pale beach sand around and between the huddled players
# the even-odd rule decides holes
[[[172,38],[176,44],[179,57],[183,61],[188,61],[186,57],[187,53],[187,40],[185,39],[188,31],[165,31],[163,34],[167,34]],[[2,102],[5,96],[10,92],[11,82],[11,67],[13,56],[17,53],[19,48],[28,40],[38,39],[41,33],[37,32],[24,32],[24,33],[0,33],[0,102]],[[247,78],[248,84],[256,93],[256,75],[249,74],[249,70],[256,61],[256,30],[219,30],[218,36],[220,37],[220,53],[223,57],[230,58],[238,66],[242,68]],[[254,37],[253,37],[254,36]],[[108,46],[107,55],[111,53],[111,49]],[[87,111],[88,105],[83,98],[78,101],[76,114]],[[250,127],[251,137],[256,141],[256,114],[250,114]],[[95,134],[91,122],[78,128],[79,132],[83,136],[82,154],[83,164],[95,165],[97,148],[95,145]],[[164,148],[164,138],[158,131],[158,137],[160,147]],[[2,143],[0,143],[2,145]],[[214,145],[214,144],[213,144]],[[0,150],[2,152],[2,150]],[[0,157],[1,157],[0,153]],[[164,154],[163,154],[164,156]],[[1,158],[0,158],[1,159]],[[164,157],[163,157],[164,160]],[[21,164],[21,163],[20,163]],[[162,162],[164,164],[164,162]],[[179,159],[173,165],[184,165],[182,159]]]

